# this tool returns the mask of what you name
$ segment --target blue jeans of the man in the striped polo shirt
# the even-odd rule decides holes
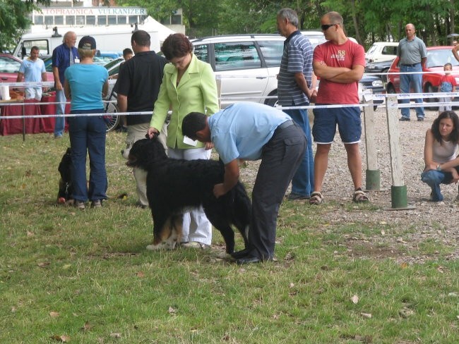
[[[312,152],[311,125],[309,125],[306,109],[284,110],[306,135],[307,147],[301,164],[292,179],[292,193],[302,196],[311,196],[314,190],[314,155]]]

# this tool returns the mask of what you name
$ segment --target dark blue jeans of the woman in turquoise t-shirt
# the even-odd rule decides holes
[[[102,113],[103,109],[75,110],[71,113]],[[68,133],[72,150],[73,199],[107,199],[105,170],[105,136],[107,125],[102,116],[68,118]],[[86,188],[86,152],[89,154],[89,190]]]

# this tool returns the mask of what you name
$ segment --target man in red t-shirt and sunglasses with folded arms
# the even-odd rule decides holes
[[[347,166],[354,183],[354,202],[368,202],[362,191],[362,156],[359,142],[362,135],[358,82],[364,74],[364,48],[346,37],[342,16],[328,12],[321,18],[327,42],[314,49],[312,66],[320,78],[316,105],[355,104],[314,109],[312,135],[317,144],[314,159],[314,192],[309,204],[321,204],[323,178],[328,166],[328,152],[335,137],[336,125],[347,153]]]

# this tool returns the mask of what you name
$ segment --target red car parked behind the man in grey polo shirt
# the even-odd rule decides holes
[[[438,72],[438,73],[426,73],[422,75],[422,90],[424,93],[434,93],[439,91],[440,79],[444,75],[443,66],[445,63],[451,63],[453,65],[453,75],[459,85],[459,62],[453,56],[451,52],[453,47],[427,47],[427,63],[424,72]],[[400,93],[400,68],[398,62],[400,59],[397,57],[391,68],[388,70],[387,76],[387,93]],[[426,98],[424,102],[438,102],[434,98]]]

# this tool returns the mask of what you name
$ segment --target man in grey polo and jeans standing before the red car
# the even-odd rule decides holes
[[[426,44],[422,39],[416,37],[415,25],[405,26],[405,38],[400,40],[397,49],[397,56],[400,57],[400,92],[410,93],[410,86],[413,92],[422,93],[422,70],[427,61]],[[406,74],[408,73],[408,74]],[[414,74],[410,74],[414,73]],[[408,104],[410,99],[402,99],[402,104]],[[422,104],[422,98],[415,99],[415,102]],[[424,107],[416,108],[417,121],[424,121]],[[410,109],[402,108],[400,121],[410,121]]]

